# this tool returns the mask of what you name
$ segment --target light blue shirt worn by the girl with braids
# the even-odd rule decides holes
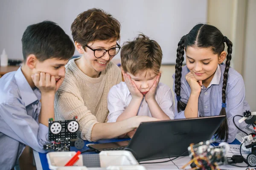
[[[223,73],[225,70],[225,65],[218,65],[217,70],[215,71],[214,77],[210,82],[209,86],[206,88],[201,88],[201,93],[198,99],[198,114],[200,117],[206,116],[218,116],[221,112],[222,106],[222,84],[223,84]],[[187,103],[189,100],[189,95],[191,92],[189,83],[186,81],[186,74],[189,73],[189,69],[184,66],[182,68],[182,77],[181,77],[181,88],[180,88],[180,96],[181,101]],[[172,76],[174,79],[173,91],[175,89],[175,74]],[[239,74],[233,68],[229,69],[228,78],[227,78],[227,90],[226,90],[226,113],[228,120],[228,140],[227,142],[233,142],[236,138],[236,134],[238,129],[233,124],[233,117],[235,115],[243,116],[243,112],[245,110],[250,111],[250,106],[245,101],[245,88],[244,88],[244,80],[241,74]],[[184,115],[184,111],[180,113],[177,112],[177,99],[175,94],[175,119],[186,119]],[[235,122],[236,125],[243,128],[245,127],[245,123],[239,124],[238,120],[241,117],[236,117]],[[198,129],[199,130],[199,129]]]

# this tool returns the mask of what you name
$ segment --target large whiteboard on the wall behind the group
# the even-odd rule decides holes
[[[58,23],[72,38],[71,23],[89,8],[102,8],[119,20],[121,45],[140,32],[156,40],[163,51],[162,64],[174,64],[180,38],[207,21],[207,0],[1,0],[0,52],[5,48],[9,59],[23,59],[23,32],[43,20]]]

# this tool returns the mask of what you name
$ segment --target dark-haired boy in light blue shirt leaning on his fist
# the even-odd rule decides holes
[[[54,118],[54,96],[74,54],[70,37],[56,23],[44,21],[26,28],[24,62],[0,79],[0,167],[12,169],[26,145],[44,153],[48,119]]]

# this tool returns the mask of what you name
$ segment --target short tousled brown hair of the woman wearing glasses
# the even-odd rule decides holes
[[[83,48],[95,40],[119,40],[120,29],[118,20],[97,8],[82,12],[71,25],[74,42],[79,42]]]

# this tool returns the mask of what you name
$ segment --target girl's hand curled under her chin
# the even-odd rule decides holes
[[[191,94],[199,95],[201,92],[201,86],[203,85],[202,80],[198,81],[197,79],[195,79],[191,72],[186,74],[185,78],[191,88]]]

